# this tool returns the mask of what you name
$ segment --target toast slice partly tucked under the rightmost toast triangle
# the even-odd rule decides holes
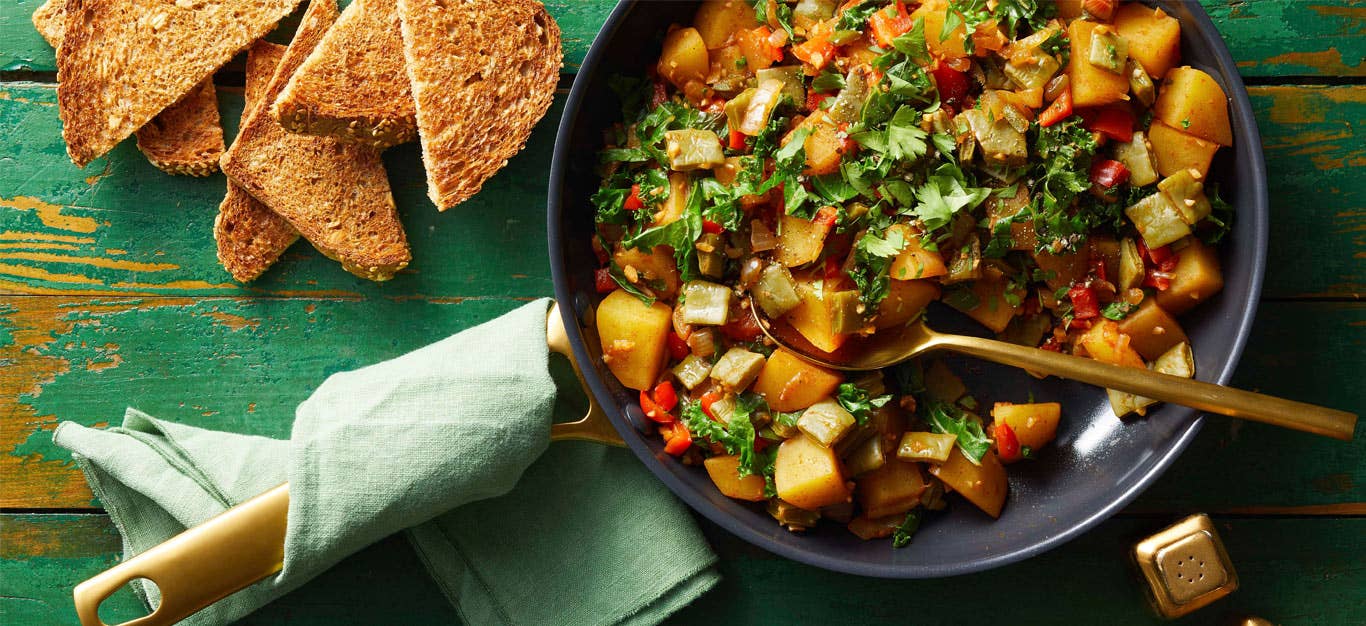
[[[290,133],[384,149],[417,139],[396,0],[355,0],[294,72],[270,115]]]

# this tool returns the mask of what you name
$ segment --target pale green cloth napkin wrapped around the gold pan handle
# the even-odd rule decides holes
[[[122,428],[64,422],[53,440],[85,470],[126,559],[290,481],[284,570],[183,623],[239,619],[404,529],[470,625],[657,623],[716,584],[716,555],[628,452],[549,446],[546,309],[331,376],[288,441],[133,409]],[[134,590],[160,601],[153,585]]]

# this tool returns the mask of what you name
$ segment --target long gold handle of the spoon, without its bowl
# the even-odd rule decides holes
[[[986,361],[1014,365],[1060,379],[1127,391],[1156,400],[1190,406],[1208,413],[1251,420],[1295,431],[1351,440],[1356,416],[1287,400],[1251,391],[1235,390],[1199,380],[1183,379],[1147,369],[1124,368],[1090,358],[1050,353],[1035,347],[964,335],[934,334],[930,350],[948,350]]]

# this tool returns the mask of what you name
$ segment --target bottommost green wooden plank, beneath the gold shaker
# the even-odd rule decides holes
[[[714,625],[721,615],[728,623],[839,623],[854,615],[858,623],[870,625],[959,623],[1007,611],[1019,623],[1093,623],[1100,616],[1116,625],[1154,623],[1126,549],[1169,521],[1112,519],[1035,559],[933,581],[817,570],[702,522],[721,558],[723,578],[671,623]],[[1179,623],[1233,623],[1235,615],[1259,615],[1276,623],[1359,621],[1366,603],[1366,567],[1359,559],[1366,549],[1366,519],[1216,522],[1242,588]],[[75,625],[71,586],[117,560],[113,528],[104,515],[0,515],[0,621],[14,626]],[[1064,584],[1045,590],[1024,581]],[[143,614],[128,590],[116,593],[104,608],[105,621]],[[391,537],[245,623],[395,623],[399,615],[403,623],[458,623],[413,549]]]

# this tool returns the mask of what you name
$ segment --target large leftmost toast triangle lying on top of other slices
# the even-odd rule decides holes
[[[66,0],[57,108],[85,167],[210,79],[299,0]]]

